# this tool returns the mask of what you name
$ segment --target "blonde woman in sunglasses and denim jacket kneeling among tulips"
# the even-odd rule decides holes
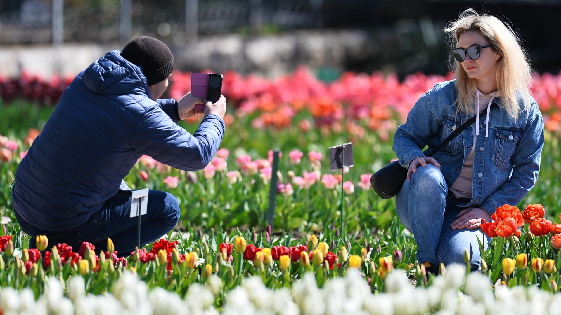
[[[466,249],[472,269],[479,268],[481,220],[506,203],[517,205],[534,187],[544,145],[530,64],[512,29],[470,9],[444,31],[452,39],[455,79],[421,96],[393,142],[408,169],[397,213],[415,235],[417,260],[433,273],[440,263],[462,263]],[[425,145],[434,149],[474,115],[475,124],[432,158],[424,156]]]

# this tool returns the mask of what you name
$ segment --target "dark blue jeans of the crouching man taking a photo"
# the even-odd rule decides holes
[[[16,214],[21,229],[31,235],[30,248],[36,247],[35,236],[47,235],[49,248],[58,243],[67,243],[77,252],[82,242],[95,245],[95,252],[107,250],[107,238],[111,238],[118,256],[130,256],[137,245],[138,217],[130,217],[131,192],[120,191],[103,203],[100,210],[88,221],[75,229],[62,232],[45,231],[29,225]],[[142,215],[140,244],[145,245],[159,239],[176,226],[180,217],[176,197],[162,191],[148,192],[148,207]]]

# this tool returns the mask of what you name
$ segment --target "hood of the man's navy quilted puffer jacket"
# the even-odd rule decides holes
[[[104,95],[150,94],[142,69],[116,49],[99,58],[84,71],[84,84],[91,91]]]

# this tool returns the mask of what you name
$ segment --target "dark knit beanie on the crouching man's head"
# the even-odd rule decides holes
[[[121,57],[142,67],[148,85],[164,81],[172,74],[174,67],[173,55],[167,45],[148,36],[131,40],[123,48]]]

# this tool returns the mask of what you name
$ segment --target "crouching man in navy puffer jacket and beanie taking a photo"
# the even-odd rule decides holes
[[[113,50],[74,78],[16,171],[12,200],[17,221],[49,245],[82,242],[105,249],[110,237],[119,256],[136,246],[130,218],[131,189],[123,181],[143,154],[181,170],[200,170],[224,136],[224,96],[206,102],[191,93],[159,99],[173,71],[173,55],[161,41],[140,37]],[[177,125],[204,115],[194,135]],[[141,243],[173,229],[177,199],[150,190],[142,216]]]

